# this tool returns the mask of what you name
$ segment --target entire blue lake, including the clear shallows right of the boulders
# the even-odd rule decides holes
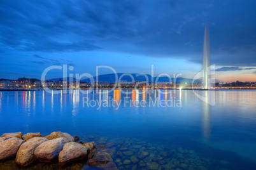
[[[211,91],[213,106],[192,90],[84,92],[0,91],[0,133],[67,132],[106,145],[119,169],[256,169],[255,90]]]

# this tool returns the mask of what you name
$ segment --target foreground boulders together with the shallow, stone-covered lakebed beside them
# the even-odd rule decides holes
[[[47,136],[3,134],[0,137],[0,169],[242,169],[221,155],[218,159],[202,157],[196,150],[181,147],[175,141],[152,142],[92,133],[79,133],[79,136],[62,132]],[[6,149],[8,147],[10,149]]]

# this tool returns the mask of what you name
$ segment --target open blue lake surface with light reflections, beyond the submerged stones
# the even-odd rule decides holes
[[[208,91],[197,92],[208,95]],[[83,107],[84,98],[96,103],[105,101],[106,107]],[[166,101],[171,107],[161,106],[156,100]],[[136,101],[145,101],[146,105]],[[216,91],[215,106],[199,100],[192,91],[181,89],[99,89],[83,94],[71,90],[59,95],[0,91],[0,131],[39,131],[43,135],[64,131],[78,136],[141,138],[198,152],[198,146],[211,148],[208,152],[212,153],[201,152],[205,157],[232,152],[256,162],[255,103],[253,90]]]

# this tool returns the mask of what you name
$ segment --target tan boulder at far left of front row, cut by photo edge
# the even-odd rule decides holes
[[[24,140],[16,137],[2,141],[0,143],[0,160],[6,160],[14,157],[22,143],[24,143]]]

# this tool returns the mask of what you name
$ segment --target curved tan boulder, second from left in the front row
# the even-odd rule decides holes
[[[36,150],[36,148],[45,141],[48,141],[48,139],[42,137],[34,137],[23,143],[18,149],[15,162],[20,166],[28,166],[34,162],[34,160],[36,160],[34,150]]]

